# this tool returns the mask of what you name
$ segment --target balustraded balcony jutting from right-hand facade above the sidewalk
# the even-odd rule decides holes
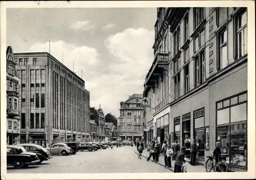
[[[157,52],[155,54],[155,60],[146,75],[146,86],[154,85],[159,76],[162,75],[165,70],[168,70],[168,55],[168,52]]]

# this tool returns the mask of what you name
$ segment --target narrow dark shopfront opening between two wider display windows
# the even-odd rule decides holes
[[[190,150],[190,113],[182,116],[182,145]]]

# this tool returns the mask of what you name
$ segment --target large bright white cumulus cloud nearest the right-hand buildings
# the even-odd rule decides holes
[[[90,104],[119,116],[120,101],[143,92],[145,75],[153,62],[154,32],[146,29],[126,29],[106,38],[104,45],[113,56],[109,74],[95,79],[97,97]]]

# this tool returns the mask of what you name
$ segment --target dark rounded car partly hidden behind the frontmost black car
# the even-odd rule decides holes
[[[42,161],[48,161],[52,158],[50,152],[40,145],[32,144],[32,143],[17,144],[17,145],[23,146],[28,152],[36,153],[36,155],[40,159],[38,164],[41,163]]]

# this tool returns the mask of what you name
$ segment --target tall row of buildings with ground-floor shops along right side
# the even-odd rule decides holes
[[[158,8],[153,48],[147,137],[188,157],[196,139],[201,164],[220,141],[229,170],[247,171],[247,8]]]

